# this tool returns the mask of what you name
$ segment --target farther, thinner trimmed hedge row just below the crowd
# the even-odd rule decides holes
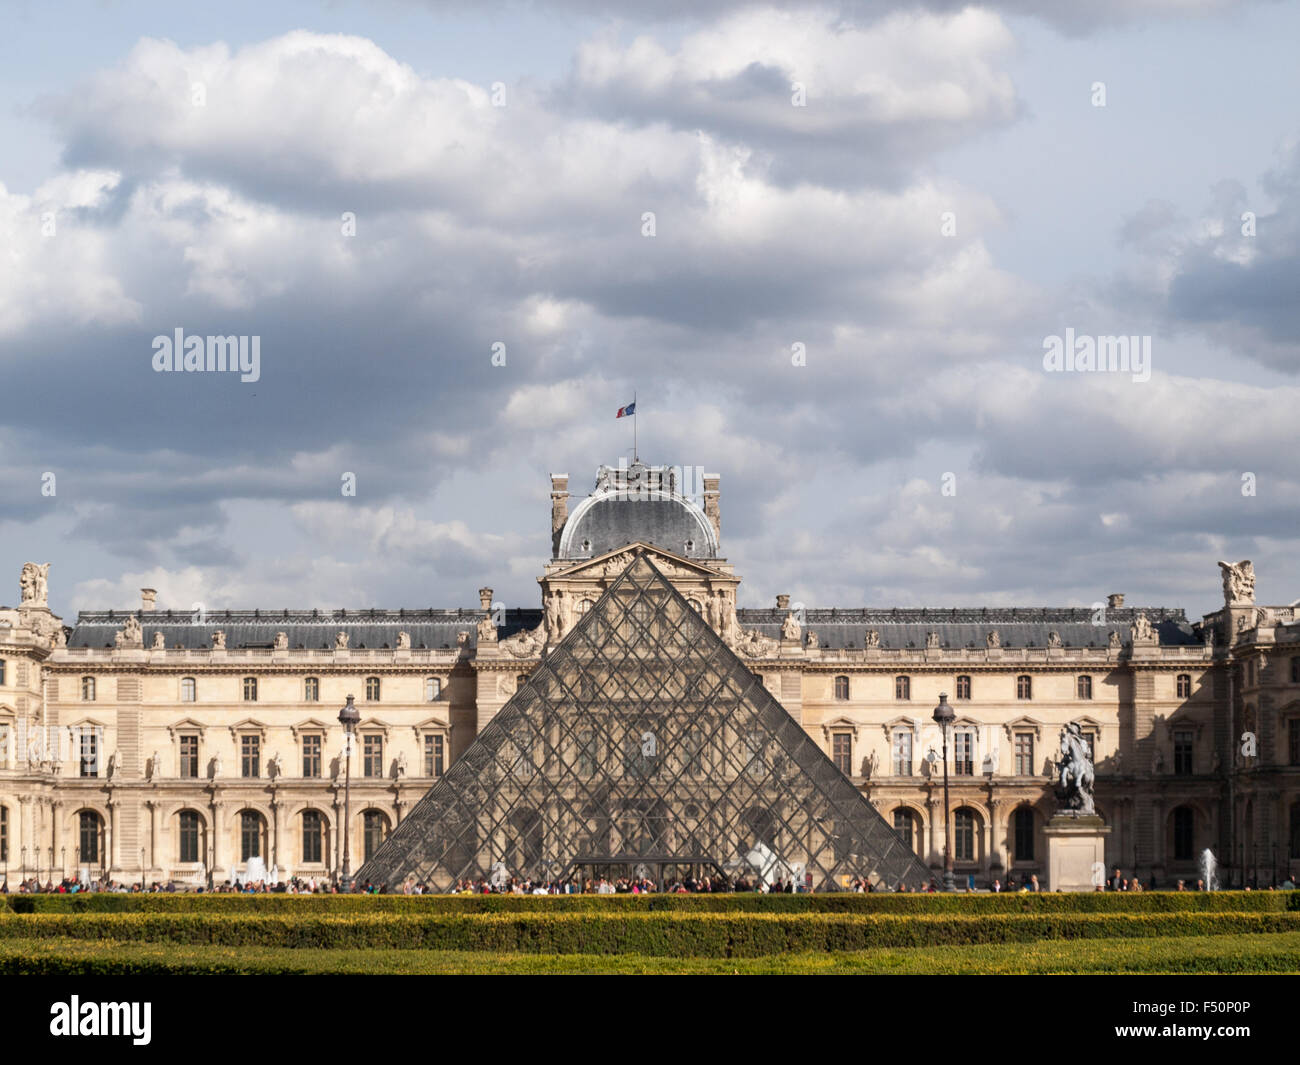
[[[10,895],[14,913],[1282,913],[1300,892],[1080,895]]]

